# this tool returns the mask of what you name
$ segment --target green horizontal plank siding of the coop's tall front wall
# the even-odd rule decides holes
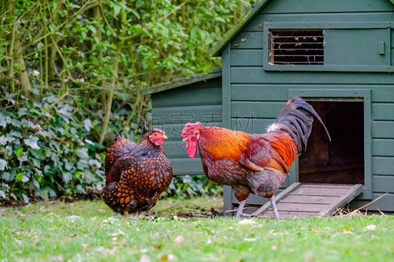
[[[360,35],[379,33],[388,30],[391,39],[386,39],[391,52],[384,62],[393,65],[394,49],[394,6],[388,0],[273,0],[242,29],[223,50],[222,71],[228,72],[228,86],[224,90],[230,94],[230,106],[224,109],[225,115],[230,116],[229,126],[241,129],[253,119],[253,132],[263,133],[268,124],[272,123],[279,110],[288,100],[289,89],[369,89],[371,90],[371,134],[372,134],[372,191],[373,199],[389,192],[394,193],[394,75],[387,72],[349,71],[269,71],[264,70],[263,51],[264,23],[289,23],[302,29],[302,25],[311,23],[328,25],[330,28],[351,30],[358,28],[354,45],[360,42]],[[362,26],[360,26],[362,25]],[[373,29],[376,25],[378,28]],[[388,28],[388,29],[387,29]],[[308,28],[305,28],[308,29]],[[345,31],[341,31],[345,32]],[[354,34],[350,33],[350,36]],[[340,37],[341,34],[335,35]],[[344,36],[344,35],[342,35]],[[345,34],[349,36],[349,34]],[[359,38],[359,40],[357,40]],[[350,38],[349,38],[350,39]],[[351,45],[351,39],[347,39]],[[358,42],[357,42],[358,41]],[[376,43],[377,44],[377,43]],[[369,43],[371,48],[375,43]],[[353,50],[350,46],[350,50]],[[353,52],[355,50],[355,52]],[[367,63],[370,59],[360,54],[362,48],[355,48],[349,55],[356,58],[357,63]],[[333,51],[330,51],[332,54]],[[329,54],[325,54],[329,55]],[[343,56],[333,54],[328,61],[334,63]],[[331,59],[331,60],[329,60]],[[342,63],[348,64],[342,60]],[[341,62],[341,61],[339,61]],[[223,81],[226,83],[226,81]],[[228,89],[226,89],[228,88]],[[253,112],[253,117],[251,116]],[[249,126],[250,128],[250,126]],[[356,130],[355,130],[356,132]],[[285,184],[286,186],[286,184]],[[262,204],[265,200],[252,196],[249,204]],[[357,208],[370,200],[355,200],[351,207]],[[237,203],[232,197],[231,203]],[[380,203],[380,204],[379,204]],[[226,205],[226,203],[225,203]],[[368,206],[376,209],[385,206],[384,210],[394,210],[394,196],[384,196],[382,200]]]

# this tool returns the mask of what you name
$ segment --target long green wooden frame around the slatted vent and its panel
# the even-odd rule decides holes
[[[394,44],[393,25],[390,22],[371,22],[371,23],[263,23],[263,70],[266,71],[350,71],[350,72],[394,72]],[[283,65],[269,63],[269,31],[270,30],[308,30],[308,29],[391,29],[390,41],[387,43],[386,56],[390,56],[390,65]],[[326,54],[325,54],[326,55]]]

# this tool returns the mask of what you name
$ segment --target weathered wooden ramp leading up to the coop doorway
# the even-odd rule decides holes
[[[275,197],[280,218],[327,216],[352,201],[362,185],[293,183]],[[262,217],[273,217],[270,202],[264,204]]]

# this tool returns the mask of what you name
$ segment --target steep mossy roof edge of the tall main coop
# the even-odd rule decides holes
[[[251,21],[262,9],[263,7],[273,0],[257,0],[250,6],[249,11],[245,13],[245,15],[237,21],[237,23],[228,30],[222,37],[220,41],[218,41],[210,50],[209,54],[213,57],[221,56],[222,50],[224,47],[240,32],[248,23]],[[389,0],[392,4],[394,4],[394,0]]]

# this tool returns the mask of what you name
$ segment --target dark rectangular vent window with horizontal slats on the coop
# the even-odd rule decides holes
[[[324,64],[324,33],[319,30],[270,30],[269,64]]]

